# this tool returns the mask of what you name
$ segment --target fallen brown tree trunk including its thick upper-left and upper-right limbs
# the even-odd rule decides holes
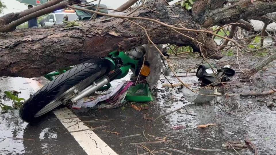
[[[43,6],[41,7],[42,10],[36,12],[34,9],[30,9],[29,12],[32,13],[28,15],[26,12],[20,12],[19,14],[23,17],[19,19],[20,16],[17,18],[8,18],[9,16],[6,15],[0,17],[0,21],[2,21],[0,32],[8,32],[0,33],[0,76],[41,76],[54,69],[78,64],[94,57],[105,57],[111,51],[125,51],[148,42],[141,27],[117,18],[81,22],[83,26],[72,28],[54,26],[9,32],[14,30],[15,26],[38,17],[43,12],[49,13],[78,0],[61,3],[58,1],[60,0],[51,0],[49,1],[51,5],[47,4],[50,7],[46,8],[41,5]],[[198,0],[193,11],[187,11],[185,7],[180,5],[166,6],[164,0],[152,0],[147,1],[143,7],[139,7],[131,16],[154,18],[157,21],[182,29],[200,30],[202,29],[200,26],[229,24],[241,19],[247,20],[254,16],[263,16],[274,12],[276,11],[275,1],[254,1],[251,3],[250,0],[242,0],[222,8],[224,0]],[[153,4],[155,5],[153,6]],[[194,10],[197,8],[202,10]],[[155,44],[189,45],[193,51],[200,52],[200,42],[203,53],[206,53],[207,57],[217,53],[217,44],[212,40],[210,33],[187,30],[175,32],[156,22],[140,19],[132,19],[132,21],[145,27]],[[214,55],[212,58],[219,59],[221,55]]]

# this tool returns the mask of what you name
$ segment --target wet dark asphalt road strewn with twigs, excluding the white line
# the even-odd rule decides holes
[[[182,77],[181,79],[188,84],[200,84],[196,77]],[[241,87],[229,84],[229,96],[226,98],[218,97],[217,100],[222,104],[220,105],[221,107],[231,111],[233,115],[220,110],[214,102],[191,104],[185,101],[181,89],[163,88],[161,82],[156,88],[156,101],[147,103],[150,107],[148,110],[135,111],[130,107],[131,104],[139,105],[142,103],[129,104],[129,102],[125,102],[123,105],[125,108],[88,108],[72,110],[72,113],[78,117],[92,116],[81,118],[82,121],[112,119],[111,121],[86,124],[92,127],[109,125],[110,127],[104,128],[107,131],[116,128],[114,132],[118,132],[119,135],[110,133],[106,137],[107,132],[102,131],[102,129],[94,130],[94,132],[117,154],[137,154],[137,147],[130,143],[148,142],[143,136],[144,132],[145,136],[151,141],[160,140],[154,139],[149,135],[165,137],[173,133],[167,138],[172,140],[170,143],[144,144],[149,150],[164,150],[173,154],[181,153],[166,149],[177,149],[190,154],[237,154],[232,149],[200,151],[194,148],[221,149],[221,146],[227,142],[237,140],[244,142],[244,138],[248,136],[250,141],[257,146],[259,154],[272,155],[276,154],[275,108],[269,108],[264,103],[258,103],[257,98],[254,97],[241,98],[235,95],[235,92],[266,90],[266,88],[275,86],[275,79],[275,76],[257,79],[254,86],[248,83],[242,84]],[[164,78],[161,80],[165,81]],[[173,83],[178,83],[172,77],[169,77],[169,80]],[[40,82],[45,83],[45,80]],[[114,82],[113,88],[119,82]],[[24,82],[24,78],[0,78],[0,85],[2,91],[21,91],[19,96],[25,99],[28,98],[29,94],[34,93],[34,90]],[[233,94],[231,94],[231,91]],[[267,101],[269,96],[258,99]],[[8,104],[10,102],[6,101],[3,103]],[[252,104],[256,105],[242,108]],[[156,121],[143,119],[144,116],[157,118],[183,105],[186,105],[189,113],[197,116],[187,115],[185,111],[180,111]],[[5,140],[1,141],[0,139],[0,154],[86,154],[72,135],[65,133],[66,129],[61,122],[58,119],[52,121],[53,118],[55,118],[55,115],[51,112],[39,124],[30,125],[18,119],[17,113],[15,115],[11,113],[1,114],[0,138],[4,137]],[[206,129],[196,128],[198,125],[208,123],[215,123],[216,125]],[[141,135],[120,138],[135,134]],[[25,139],[10,139],[7,137]],[[35,141],[27,139],[34,139]],[[236,150],[239,154],[253,154],[251,149]],[[142,149],[138,151],[139,154],[145,153]]]

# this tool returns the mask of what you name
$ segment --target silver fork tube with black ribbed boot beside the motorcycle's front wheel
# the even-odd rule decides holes
[[[77,100],[80,100],[80,99],[86,97],[87,95],[91,94],[92,92],[95,92],[96,90],[98,90],[102,86],[108,84],[110,81],[116,79],[121,74],[122,74],[121,69],[114,69],[114,71],[112,71],[108,75],[105,75],[104,77],[100,78],[99,80],[93,82],[92,85],[86,87],[84,90],[79,92],[78,95],[75,96],[74,98],[72,98],[70,101],[72,103],[74,103]]]

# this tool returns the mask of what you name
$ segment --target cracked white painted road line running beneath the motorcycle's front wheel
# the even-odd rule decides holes
[[[42,88],[42,84],[39,82],[27,79],[27,82],[30,82],[30,86],[35,90],[39,90]],[[53,113],[56,115],[57,119],[60,120],[62,125],[65,128],[68,128],[67,130],[70,131],[76,131],[76,130],[83,130],[83,129],[89,129],[84,123],[79,122],[77,125],[76,121],[81,121],[80,119],[73,119],[74,121],[71,122],[71,119],[66,119],[68,117],[76,117],[76,115],[72,114],[72,111],[70,111],[68,108],[63,108],[60,110],[53,111]],[[73,126],[72,126],[73,125]],[[72,127],[70,127],[72,126]],[[118,155],[112,148],[110,148],[99,136],[97,136],[93,131],[86,130],[86,131],[80,131],[80,132],[72,132],[70,133],[78,142],[78,144],[85,150],[85,152],[88,155]]]

